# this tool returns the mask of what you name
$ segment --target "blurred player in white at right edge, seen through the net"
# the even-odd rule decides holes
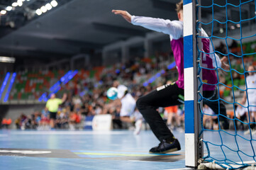
[[[242,99],[242,104],[244,105],[247,103],[247,107],[249,110],[248,113],[248,121],[250,123],[255,122],[256,120],[256,74],[255,74],[255,68],[251,65],[247,69],[248,76],[246,77],[246,87],[247,89],[245,90],[243,94],[243,99]],[[250,127],[252,128],[252,127]],[[245,135],[250,133],[250,128],[249,130],[245,131]],[[256,130],[252,130],[252,134],[256,134]]]

